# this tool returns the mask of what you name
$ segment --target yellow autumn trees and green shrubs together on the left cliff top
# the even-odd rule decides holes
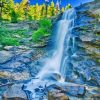
[[[68,4],[66,7],[60,8],[60,3],[55,5],[52,1],[50,4],[44,2],[42,5],[30,5],[29,0],[22,0],[20,3],[14,3],[14,0],[0,0],[0,20],[18,23],[19,21],[38,20],[39,27],[31,30],[31,35],[25,29],[9,30],[6,26],[0,26],[0,44],[1,45],[20,45],[23,38],[32,37],[31,42],[40,43],[50,36],[52,30],[51,17],[56,16],[64,10],[71,8]],[[24,25],[24,24],[23,24]],[[33,26],[34,27],[34,26]],[[29,30],[29,29],[28,29]],[[17,36],[16,36],[17,35]]]

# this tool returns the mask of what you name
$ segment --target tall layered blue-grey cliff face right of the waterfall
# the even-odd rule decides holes
[[[75,9],[77,18],[72,36],[76,37],[76,52],[69,64],[66,64],[66,81],[98,88],[100,86],[100,2],[86,3]],[[65,41],[65,49],[66,45]],[[98,88],[93,92],[97,100],[100,98],[99,91]],[[91,99],[96,100],[93,94]]]

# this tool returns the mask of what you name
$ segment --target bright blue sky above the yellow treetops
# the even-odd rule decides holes
[[[21,2],[22,0],[14,0],[15,3],[16,2]],[[30,0],[30,3],[31,4],[42,4],[45,0]],[[52,1],[52,0],[49,0],[49,1]],[[53,0],[54,2],[56,2],[57,0]],[[61,5],[62,6],[66,6],[68,3],[70,3],[73,7],[76,7],[78,5],[80,5],[81,3],[86,3],[86,2],[90,2],[90,1],[93,1],[93,0],[61,0],[62,3]]]

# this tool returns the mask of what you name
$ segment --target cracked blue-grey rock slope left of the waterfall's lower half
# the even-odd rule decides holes
[[[22,86],[41,70],[45,54],[42,49],[26,46],[6,46],[0,51],[0,100],[27,100]]]

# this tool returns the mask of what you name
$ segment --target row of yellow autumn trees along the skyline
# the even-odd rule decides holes
[[[53,1],[46,5],[45,3],[38,5],[30,5],[28,0],[22,0],[21,3],[14,3],[14,0],[2,0],[3,6],[0,7],[0,19],[6,19],[13,23],[18,20],[40,20],[41,18],[50,18],[61,12],[64,12],[65,8],[57,8],[57,5]],[[66,10],[72,8],[70,4],[66,6]]]

